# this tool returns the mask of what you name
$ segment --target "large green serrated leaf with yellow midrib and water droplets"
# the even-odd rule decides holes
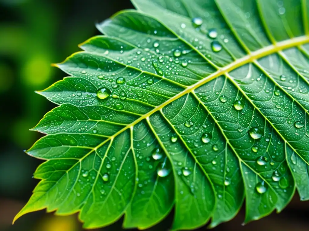
[[[309,2],[133,0],[57,64],[59,105],[32,130],[46,160],[16,215],[173,230],[309,199]]]

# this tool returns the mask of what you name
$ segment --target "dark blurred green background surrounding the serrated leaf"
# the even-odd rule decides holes
[[[95,22],[127,8],[133,8],[129,0],[0,0],[0,231],[82,230],[76,216],[56,217],[45,211],[11,225],[38,183],[32,173],[41,160],[23,150],[41,134],[29,128],[55,107],[34,91],[66,76],[50,64],[63,61],[79,50],[79,43],[99,34]],[[295,195],[279,215],[241,226],[243,208],[234,220],[213,230],[309,230],[308,211],[309,203]],[[167,230],[171,222],[172,213],[152,230]],[[121,221],[99,230],[121,230]]]

